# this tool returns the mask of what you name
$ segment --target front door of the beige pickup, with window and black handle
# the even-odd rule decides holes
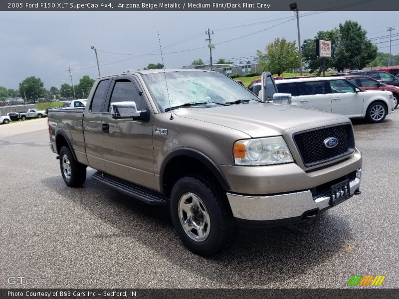
[[[102,143],[106,172],[147,188],[156,189],[154,176],[153,116],[149,122],[115,120],[111,103],[133,101],[137,110],[150,106],[134,76],[119,76],[111,83],[102,114]]]

